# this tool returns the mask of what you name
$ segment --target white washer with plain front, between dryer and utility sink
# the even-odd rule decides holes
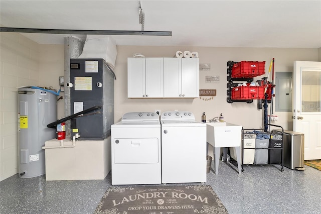
[[[164,112],[162,183],[206,182],[206,124],[191,112]]]

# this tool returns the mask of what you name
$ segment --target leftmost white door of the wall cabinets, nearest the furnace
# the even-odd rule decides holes
[[[145,89],[145,58],[127,59],[128,98],[142,98]]]

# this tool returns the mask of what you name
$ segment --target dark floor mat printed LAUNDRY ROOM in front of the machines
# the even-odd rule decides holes
[[[228,213],[209,185],[109,187],[95,214]]]

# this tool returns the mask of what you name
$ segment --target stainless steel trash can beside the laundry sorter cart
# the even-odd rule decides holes
[[[272,130],[272,133],[282,134],[282,130]],[[304,134],[283,131],[283,164],[293,170],[304,169]]]

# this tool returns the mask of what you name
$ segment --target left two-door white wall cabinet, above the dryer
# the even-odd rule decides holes
[[[128,58],[128,98],[164,97],[164,58]]]

